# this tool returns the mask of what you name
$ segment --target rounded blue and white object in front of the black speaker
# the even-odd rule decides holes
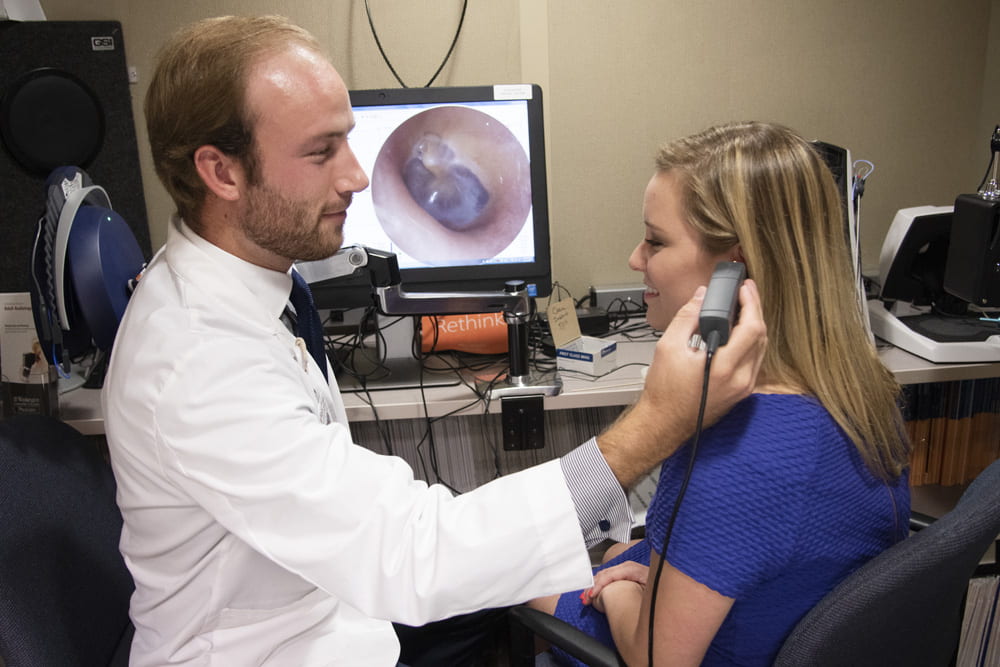
[[[111,349],[145,261],[108,193],[79,167],[45,183],[31,256],[31,305],[45,356],[60,375],[70,357]]]

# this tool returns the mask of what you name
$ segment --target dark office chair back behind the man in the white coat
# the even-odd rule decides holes
[[[127,665],[134,585],[111,467],[43,416],[0,421],[0,665]]]

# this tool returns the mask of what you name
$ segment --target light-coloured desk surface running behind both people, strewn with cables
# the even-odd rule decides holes
[[[557,396],[545,398],[546,410],[595,408],[633,403],[642,391],[643,368],[653,355],[655,343],[650,341],[620,341],[618,365],[614,372],[590,380],[576,373],[561,373],[563,390]],[[879,356],[900,384],[924,382],[950,382],[1000,376],[998,363],[935,364],[916,357],[899,348],[886,347]],[[472,392],[463,385],[434,387],[425,390],[427,414],[440,417],[451,413],[481,414],[483,405],[475,400]],[[370,396],[375,401],[379,419],[420,419],[425,416],[424,402],[419,389],[375,391]],[[372,408],[363,395],[344,395],[347,418],[351,421],[374,421]],[[60,396],[60,415],[81,433],[104,433],[101,415],[100,391],[75,389]],[[490,412],[499,412],[499,401],[492,401]]]

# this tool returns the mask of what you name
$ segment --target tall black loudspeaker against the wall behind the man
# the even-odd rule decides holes
[[[121,24],[2,21],[0,63],[0,292],[28,291],[45,180],[63,165],[107,191],[148,258]]]

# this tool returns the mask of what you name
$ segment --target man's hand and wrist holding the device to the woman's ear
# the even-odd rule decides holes
[[[706,353],[688,345],[698,331],[701,287],[674,316],[656,344],[638,402],[597,444],[622,486],[629,488],[694,434]],[[752,280],[740,287],[740,316],[729,342],[712,359],[704,426],[715,423],[753,391],[767,349],[767,327]]]

